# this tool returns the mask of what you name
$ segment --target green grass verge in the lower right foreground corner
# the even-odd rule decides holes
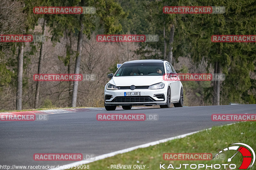
[[[160,169],[159,164],[166,164],[164,167],[167,169],[169,164],[180,169],[185,169],[182,164],[228,164],[227,159],[231,158],[236,151],[225,152],[224,160],[164,160],[164,153],[217,153],[221,149],[229,147],[233,143],[245,143],[250,145],[256,151],[256,122],[240,122],[228,126],[212,127],[211,130],[205,130],[185,138],[174,139],[162,144],[150,146],[147,148],[136,149],[131,152],[118,154],[113,157],[98,160],[89,163],[90,169],[93,170],[110,170],[111,165],[145,165],[145,169],[157,170]],[[106,144],[107,146],[107,144]],[[236,164],[236,169],[242,164],[242,154],[238,152],[232,158],[229,164]],[[143,167],[143,166],[142,166]],[[194,166],[193,166],[194,167]],[[72,168],[76,169],[76,168]],[[78,168],[79,169],[79,168]],[[113,169],[113,168],[112,168]],[[163,168],[162,168],[163,169]],[[172,168],[169,168],[172,169]],[[187,169],[191,169],[187,166]],[[198,167],[196,168],[198,169]],[[206,169],[200,168],[200,169]],[[209,169],[209,167],[208,167]],[[214,168],[213,168],[214,169]],[[220,169],[224,169],[221,166]],[[226,167],[226,169],[229,169]],[[256,169],[256,165],[252,166],[250,170]]]

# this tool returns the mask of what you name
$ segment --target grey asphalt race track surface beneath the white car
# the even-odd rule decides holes
[[[157,121],[97,121],[98,113],[158,114]],[[0,165],[65,165],[35,161],[34,153],[93,153],[96,156],[232,122],[214,113],[256,113],[256,104],[86,111],[49,115],[47,121],[0,122]]]

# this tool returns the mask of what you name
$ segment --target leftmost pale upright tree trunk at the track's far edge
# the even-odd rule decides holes
[[[19,47],[19,50],[18,50],[16,110],[21,110],[22,109],[23,52],[24,52],[24,44],[21,43],[21,45]]]

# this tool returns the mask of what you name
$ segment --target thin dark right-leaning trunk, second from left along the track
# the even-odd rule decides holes
[[[46,27],[46,21],[44,20],[43,31],[42,31],[44,37],[45,37],[45,27]],[[44,53],[44,41],[41,42],[41,48],[40,48],[40,54],[39,54],[39,61],[38,61],[37,74],[41,74],[43,53]],[[39,82],[40,82],[40,81],[36,81],[36,96],[35,96],[35,104],[34,104],[34,108],[35,108],[35,109],[38,108],[38,101],[39,101]]]

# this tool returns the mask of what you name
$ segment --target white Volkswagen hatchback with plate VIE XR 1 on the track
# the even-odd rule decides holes
[[[172,103],[174,107],[183,106],[183,86],[168,61],[127,61],[108,78],[111,80],[104,90],[106,110],[115,110],[116,106],[129,110],[135,105],[169,108]]]

